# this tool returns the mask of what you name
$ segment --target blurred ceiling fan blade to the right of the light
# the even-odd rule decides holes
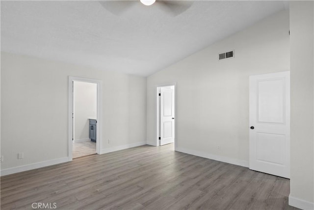
[[[194,3],[193,0],[157,0],[163,9],[168,10],[174,16],[180,15]]]

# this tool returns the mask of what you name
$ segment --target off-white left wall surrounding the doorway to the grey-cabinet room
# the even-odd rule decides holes
[[[102,152],[146,143],[146,78],[1,52],[1,175],[67,160],[69,76],[103,81]]]

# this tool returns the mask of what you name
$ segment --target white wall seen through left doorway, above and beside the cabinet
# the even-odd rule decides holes
[[[89,120],[97,120],[97,84],[74,81],[74,141],[89,139]]]

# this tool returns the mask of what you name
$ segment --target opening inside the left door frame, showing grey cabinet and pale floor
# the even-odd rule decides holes
[[[73,81],[73,158],[96,154],[97,84]]]

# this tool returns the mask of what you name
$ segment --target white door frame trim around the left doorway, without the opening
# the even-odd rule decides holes
[[[72,113],[74,113],[74,98],[73,98],[73,82],[87,82],[87,83],[95,83],[97,84],[97,124],[96,124],[96,152],[97,154],[100,154],[100,150],[102,148],[102,107],[103,107],[103,81],[101,80],[95,80],[95,79],[89,79],[89,78],[83,78],[83,77],[74,77],[69,76],[68,80],[68,158],[69,161],[72,161],[72,134],[73,134],[73,121],[72,121]]]

